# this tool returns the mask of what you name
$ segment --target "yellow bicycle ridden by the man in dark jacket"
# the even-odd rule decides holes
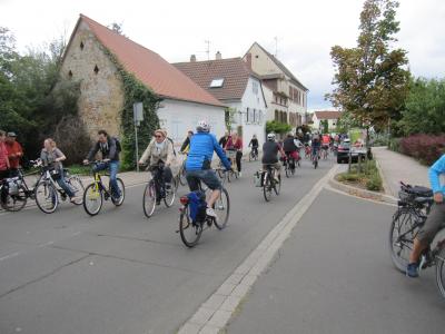
[[[93,163],[89,163],[88,165],[97,166],[102,161],[97,160]],[[83,191],[83,208],[87,214],[90,216],[96,216],[97,214],[99,214],[100,209],[102,208],[103,199],[108,200],[109,198],[111,198],[111,202],[115,206],[121,206],[125,199],[125,185],[122,179],[119,177],[117,178],[120,197],[116,199],[113,196],[111,196],[110,185],[108,185],[107,188],[101,179],[102,176],[109,177],[109,174],[100,174],[99,171],[93,171],[92,176],[92,184],[89,184]]]

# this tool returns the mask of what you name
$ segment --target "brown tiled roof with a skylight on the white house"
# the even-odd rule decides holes
[[[249,77],[257,77],[241,58],[178,62],[174,66],[219,100],[241,99]],[[210,82],[218,78],[224,78],[222,87],[210,88]]]

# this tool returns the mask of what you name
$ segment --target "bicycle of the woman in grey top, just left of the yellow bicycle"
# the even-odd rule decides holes
[[[75,194],[79,191],[83,193],[85,190],[80,177],[76,175],[70,176],[68,169],[63,168],[61,174],[55,167],[42,167],[41,176],[37,181],[37,186],[34,187],[34,197],[37,206],[46,214],[52,214],[56,212],[57,207],[59,206],[60,198],[63,202],[67,200],[67,193],[60,188],[60,186],[58,187],[55,181],[55,179],[58,177],[63,177],[68,187],[70,187]],[[82,203],[83,198],[79,196],[75,197],[72,200],[72,204],[75,205],[81,205]]]

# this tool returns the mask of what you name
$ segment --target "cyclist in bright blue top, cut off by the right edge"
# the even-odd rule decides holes
[[[414,239],[413,252],[409,255],[409,264],[406,267],[406,275],[409,277],[418,276],[418,259],[422,252],[429,246],[437,232],[445,225],[445,185],[441,185],[441,175],[445,175],[445,155],[434,163],[428,170],[435,205],[433,205],[425,225]]]

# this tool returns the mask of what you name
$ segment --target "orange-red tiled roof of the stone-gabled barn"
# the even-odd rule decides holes
[[[158,53],[142,47],[107,27],[80,14],[97,39],[111,52],[123,68],[165,98],[222,106],[215,97],[196,85]]]

